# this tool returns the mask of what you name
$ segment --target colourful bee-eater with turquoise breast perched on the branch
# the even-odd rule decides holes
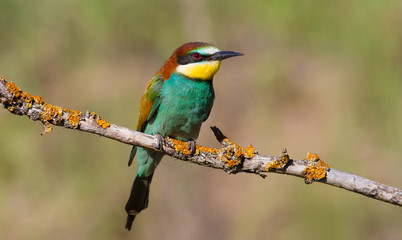
[[[149,81],[140,101],[137,131],[189,143],[195,152],[201,124],[207,120],[215,98],[213,77],[221,61],[241,56],[221,51],[206,42],[188,42],[177,48]],[[128,165],[137,154],[137,173],[125,206],[126,229],[131,230],[138,213],[148,207],[149,188],[162,152],[133,146]]]

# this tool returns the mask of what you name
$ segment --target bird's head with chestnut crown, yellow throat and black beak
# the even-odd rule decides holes
[[[158,73],[164,79],[178,73],[191,79],[212,80],[223,59],[241,55],[238,52],[220,51],[209,43],[189,42],[176,49]]]

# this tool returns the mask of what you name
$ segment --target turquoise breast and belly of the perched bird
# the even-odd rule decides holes
[[[159,133],[182,141],[197,139],[214,102],[212,81],[190,80],[172,74],[164,82],[160,97],[158,112],[148,122],[145,133]]]

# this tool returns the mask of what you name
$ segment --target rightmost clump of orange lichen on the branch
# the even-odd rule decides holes
[[[318,154],[307,153],[307,167],[304,169],[306,183],[312,183],[325,178],[327,171],[330,169],[329,165],[320,160]]]

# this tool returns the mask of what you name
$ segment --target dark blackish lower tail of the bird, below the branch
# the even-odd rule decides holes
[[[135,216],[148,207],[149,186],[152,181],[152,175],[148,177],[135,177],[131,188],[130,198],[126,204],[127,222],[126,229],[131,230]]]

